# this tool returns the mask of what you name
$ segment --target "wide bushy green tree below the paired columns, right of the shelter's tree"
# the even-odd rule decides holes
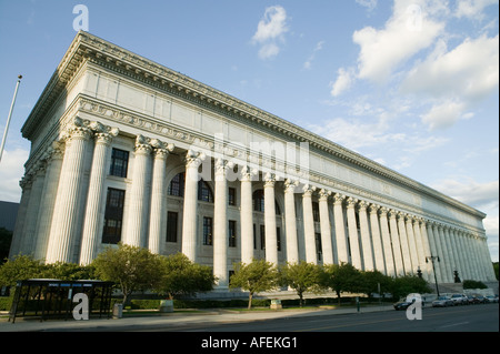
[[[154,286],[160,294],[173,300],[178,295],[192,295],[213,289],[216,276],[211,267],[193,263],[182,253],[161,256],[161,279]]]

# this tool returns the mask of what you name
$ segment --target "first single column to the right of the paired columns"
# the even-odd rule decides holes
[[[186,154],[184,208],[182,218],[182,253],[197,261],[198,168],[204,155],[189,150]]]

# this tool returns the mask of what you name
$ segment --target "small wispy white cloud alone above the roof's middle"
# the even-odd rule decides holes
[[[257,32],[252,37],[253,43],[261,44],[260,59],[270,59],[280,52],[278,41],[283,41],[283,34],[288,32],[287,11],[280,6],[266,8],[262,19],[257,26]]]

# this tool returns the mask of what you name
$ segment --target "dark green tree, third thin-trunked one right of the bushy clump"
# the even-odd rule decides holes
[[[357,293],[362,291],[361,273],[350,263],[328,264],[323,266],[323,285],[340,295],[343,292]]]

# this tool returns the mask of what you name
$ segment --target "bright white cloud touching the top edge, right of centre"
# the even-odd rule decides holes
[[[426,2],[421,3],[397,0],[383,29],[366,27],[353,33],[352,40],[360,45],[359,78],[384,82],[401,63],[432,44],[444,23],[431,20]]]

